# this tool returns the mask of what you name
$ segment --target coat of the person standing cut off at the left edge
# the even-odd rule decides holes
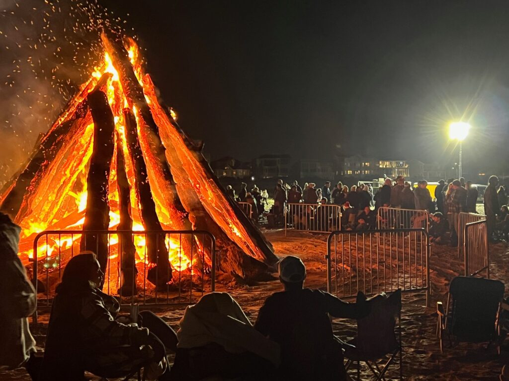
[[[0,223],[0,366],[13,368],[35,352],[27,317],[35,311],[36,293],[18,257],[20,232],[10,221]]]

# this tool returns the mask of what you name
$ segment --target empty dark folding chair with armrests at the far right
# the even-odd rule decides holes
[[[499,313],[504,284],[499,280],[457,276],[450,282],[445,310],[437,302],[437,337],[443,352],[444,335],[456,342],[496,343],[500,354]]]

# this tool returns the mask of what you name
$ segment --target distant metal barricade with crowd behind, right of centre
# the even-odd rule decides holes
[[[378,229],[420,229],[429,231],[429,213],[427,210],[397,209],[386,206],[378,208]]]

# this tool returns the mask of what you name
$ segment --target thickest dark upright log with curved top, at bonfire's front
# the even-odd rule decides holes
[[[108,179],[115,148],[113,140],[115,120],[106,94],[102,91],[94,91],[87,99],[94,120],[94,148],[87,177],[87,211],[83,232],[108,230]],[[83,234],[81,249],[94,251],[102,271],[105,272],[108,262],[107,234]]]

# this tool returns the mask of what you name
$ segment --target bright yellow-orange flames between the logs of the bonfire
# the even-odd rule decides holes
[[[131,62],[139,62],[138,48],[131,41],[131,46],[128,50]],[[135,72],[138,76],[142,76],[141,65],[137,65]],[[127,149],[127,142],[125,136],[124,116],[123,109],[128,107],[127,99],[123,93],[122,84],[120,83],[119,74],[113,65],[110,56],[107,52],[104,53],[104,61],[102,65],[95,68],[91,73],[91,79],[82,86],[81,93],[78,94],[71,102],[68,111],[63,114],[58,121],[55,122],[53,128],[59,123],[67,120],[72,115],[72,111],[76,109],[77,105],[86,99],[88,93],[92,91],[99,79],[105,74],[110,73],[105,89],[110,105],[111,111],[115,117],[115,134],[116,139],[120,139],[121,147],[124,151],[126,172],[128,182],[130,185],[130,198],[131,198],[131,217],[133,219],[133,231],[143,231],[144,226],[139,216],[138,201],[135,194],[135,178],[133,164]],[[148,102],[150,102],[147,99]],[[137,110],[133,108],[136,115]],[[80,121],[80,126],[77,133],[70,137],[69,141],[65,144],[65,149],[62,149],[55,157],[51,165],[45,171],[40,183],[31,195],[29,200],[24,200],[24,203],[30,205],[30,212],[24,213],[26,215],[18,214],[16,221],[21,226],[21,239],[20,239],[20,252],[19,256],[22,260],[33,258],[34,252],[32,242],[37,233],[45,230],[80,230],[83,227],[85,209],[87,207],[87,172],[90,165],[90,157],[92,155],[93,147],[93,134],[94,124],[90,112],[86,117]],[[143,139],[140,139],[143,141]],[[117,145],[116,145],[117,146]],[[112,234],[109,235],[109,252],[110,259],[118,257],[118,242],[119,237],[115,234],[115,229],[120,223],[119,213],[119,195],[117,190],[117,174],[116,174],[116,154],[111,165],[111,172],[109,177],[109,230]],[[165,207],[161,199],[162,196],[158,192],[154,192],[154,201],[156,204],[156,212],[160,218],[163,229],[183,230],[180,223],[182,216],[172,207]],[[46,239],[41,239],[38,248],[37,256],[40,259],[58,256],[65,250],[79,250],[80,235],[76,234],[72,237],[65,236],[50,236]],[[133,242],[136,247],[136,262],[147,264],[145,255],[145,236],[143,234],[134,234]],[[185,245],[181,245],[179,239],[173,236],[166,237],[166,247],[168,249],[168,261],[172,267],[177,271],[184,271],[189,269],[195,259],[191,260],[184,252]],[[53,264],[54,266],[54,264]]]

